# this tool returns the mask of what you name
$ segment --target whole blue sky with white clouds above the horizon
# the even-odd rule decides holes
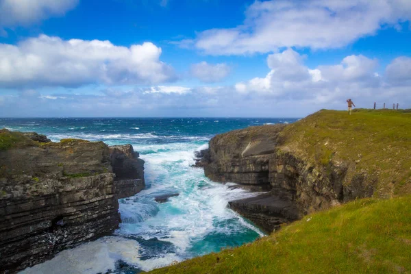
[[[410,0],[0,0],[0,117],[411,108]]]

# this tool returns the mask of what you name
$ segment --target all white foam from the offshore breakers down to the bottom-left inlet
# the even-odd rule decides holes
[[[155,140],[162,136],[154,135]],[[113,269],[117,260],[138,267],[143,271],[150,271],[175,261],[179,262],[187,257],[195,256],[204,251],[192,251],[195,246],[201,247],[201,241],[208,235],[221,234],[221,237],[241,237],[242,233],[256,232],[256,235],[264,235],[256,227],[242,219],[241,216],[227,208],[228,201],[252,197],[257,193],[250,193],[240,188],[229,188],[232,184],[217,184],[204,177],[203,170],[193,169],[193,151],[206,149],[208,138],[186,136],[189,142],[171,142],[168,144],[142,143],[135,136],[147,136],[147,134],[77,134],[78,138],[89,140],[119,140],[131,142],[134,149],[140,152],[140,158],[145,160],[145,179],[149,188],[142,190],[134,197],[120,200],[119,211],[123,222],[116,230],[117,236],[112,239],[121,239],[119,242],[109,238],[103,238],[96,242],[86,243],[77,248],[63,252],[71,253],[60,258],[59,261],[51,261],[42,266],[43,269],[71,269],[65,266],[66,262],[73,265],[82,265],[86,260],[86,269],[73,273],[105,273]],[[70,134],[70,137],[77,136]],[[67,138],[67,135],[54,134],[53,138]],[[164,136],[164,138],[182,138],[182,136]],[[203,142],[201,145],[201,142]],[[157,203],[154,197],[168,193],[178,192],[179,196],[169,198],[166,203]],[[155,249],[151,251],[141,242],[136,247],[136,241],[122,238],[121,236],[133,236],[136,240],[159,240],[158,245],[169,246],[173,249]],[[104,242],[105,241],[105,242]],[[108,241],[108,242],[107,242]],[[218,251],[219,243],[214,249],[209,247],[207,252]],[[129,253],[124,254],[124,251]],[[138,257],[138,253],[145,254],[145,260]],[[150,253],[155,252],[155,253]],[[160,252],[160,253],[159,253]],[[196,253],[197,252],[197,253]],[[76,256],[74,253],[79,253]],[[84,255],[82,255],[82,253]],[[72,258],[72,260],[64,259]],[[53,259],[54,260],[54,259]],[[47,264],[47,263],[45,263]],[[42,264],[40,264],[41,266]],[[39,267],[40,267],[39,266]],[[85,266],[85,267],[86,267]],[[73,269],[76,269],[73,268]],[[80,266],[78,266],[80,267]],[[36,273],[36,272],[27,272]],[[47,272],[44,272],[47,273]],[[70,273],[65,271],[64,273]]]

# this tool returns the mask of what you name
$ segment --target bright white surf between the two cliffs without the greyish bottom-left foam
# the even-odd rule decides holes
[[[241,216],[227,208],[228,201],[252,197],[251,193],[240,188],[230,189],[232,184],[217,184],[203,176],[201,169],[192,169],[192,151],[206,148],[204,144],[198,147],[195,143],[173,143],[168,145],[134,145],[137,151],[153,149],[158,153],[142,154],[146,161],[146,181],[151,182],[151,188],[143,190],[129,201],[121,201],[120,212],[123,218],[138,215],[144,219],[138,223],[121,223],[116,234],[136,235],[141,238],[158,238],[163,242],[171,242],[175,253],[164,253],[160,260],[145,261],[147,269],[160,267],[161,264],[171,264],[179,260],[192,245],[208,234],[221,233],[235,236],[250,229],[262,236],[262,232],[247,223]],[[164,151],[160,151],[164,149]],[[169,202],[158,204],[158,211],[151,210],[153,197],[167,192],[179,192],[178,197],[171,197]],[[143,212],[143,214],[142,214]],[[147,212],[149,212],[147,214]],[[132,219],[132,218],[131,218]],[[136,219],[136,218],[134,218]],[[230,227],[221,223],[236,219]]]

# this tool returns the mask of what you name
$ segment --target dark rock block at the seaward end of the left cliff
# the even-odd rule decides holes
[[[115,193],[118,199],[136,195],[145,188],[144,161],[132,145],[110,146],[110,162],[112,164]]]

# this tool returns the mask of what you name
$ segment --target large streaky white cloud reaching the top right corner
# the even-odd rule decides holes
[[[183,40],[213,55],[266,53],[282,47],[343,47],[373,35],[382,25],[410,20],[408,0],[255,1],[242,25],[208,29],[195,40]]]

